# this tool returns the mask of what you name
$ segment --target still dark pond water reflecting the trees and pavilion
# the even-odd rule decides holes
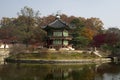
[[[104,64],[5,64],[0,80],[120,80],[120,65]]]

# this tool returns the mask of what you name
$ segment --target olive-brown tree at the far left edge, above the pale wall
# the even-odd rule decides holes
[[[0,27],[0,39],[5,40],[7,42],[10,42],[14,37],[13,31],[14,31],[14,24],[13,20],[15,18],[8,18],[3,17],[1,19],[1,27]]]

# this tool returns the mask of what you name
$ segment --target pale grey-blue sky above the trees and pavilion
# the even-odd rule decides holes
[[[69,16],[97,17],[105,28],[120,28],[120,0],[0,0],[0,19],[17,17],[24,6],[39,10],[41,16],[61,11]]]

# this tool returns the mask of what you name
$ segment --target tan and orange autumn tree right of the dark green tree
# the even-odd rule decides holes
[[[82,35],[92,40],[95,35],[102,33],[102,29],[103,22],[99,18],[88,18],[85,22]]]

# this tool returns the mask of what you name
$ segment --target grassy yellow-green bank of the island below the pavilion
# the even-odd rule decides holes
[[[62,60],[62,59],[93,59],[99,58],[94,54],[88,53],[19,53],[11,55],[11,59],[46,59],[46,60]]]

